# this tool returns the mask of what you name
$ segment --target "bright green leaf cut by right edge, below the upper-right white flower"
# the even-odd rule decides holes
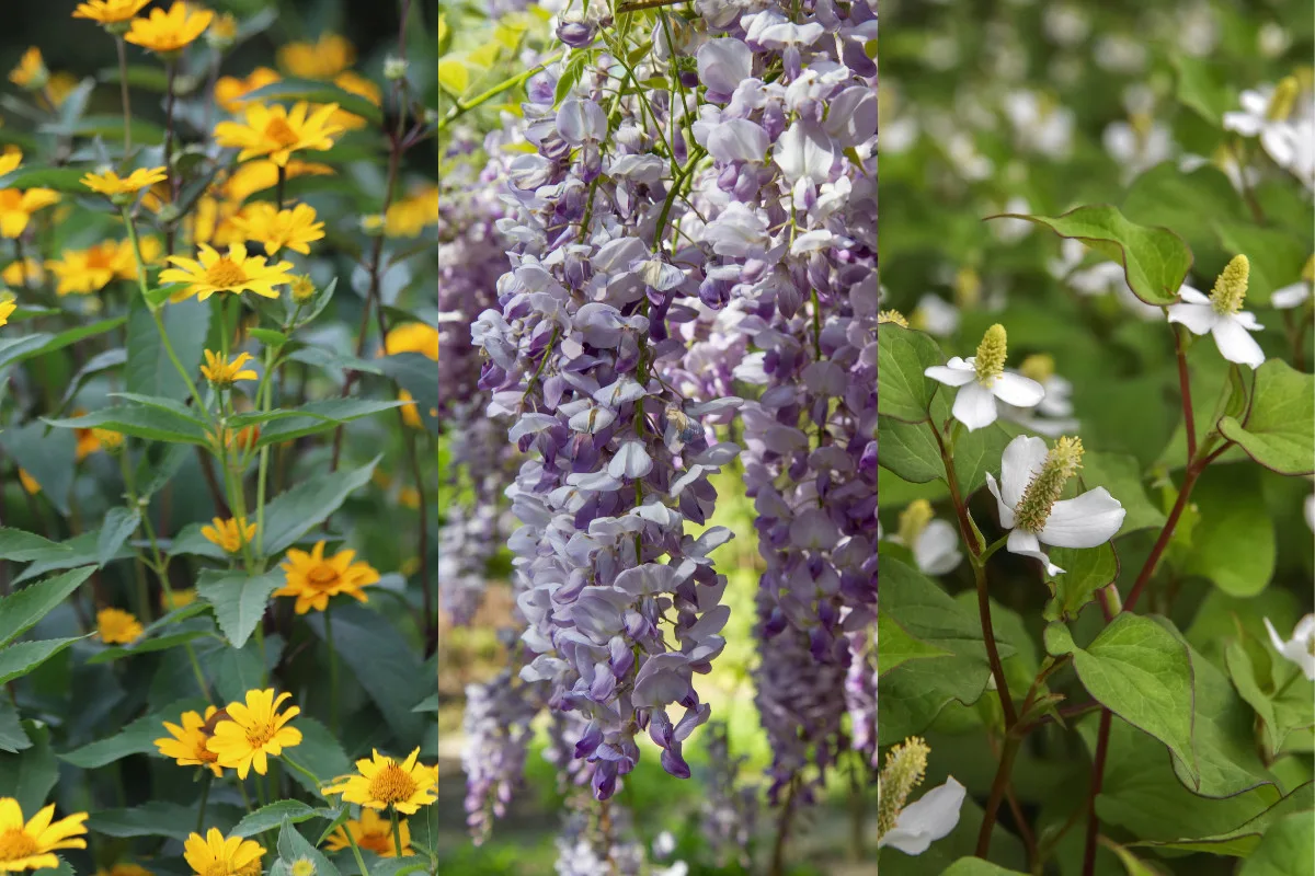
[[[1281,359],[1268,360],[1256,369],[1245,420],[1226,416],[1219,431],[1266,469],[1279,474],[1315,473],[1315,376]]]

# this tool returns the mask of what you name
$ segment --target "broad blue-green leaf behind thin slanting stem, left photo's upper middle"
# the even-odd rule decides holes
[[[201,351],[205,349],[205,339],[210,330],[209,305],[196,298],[180,301],[164,307],[160,319],[179,361],[196,380]],[[159,327],[155,324],[155,317],[141,298],[133,299],[129,313],[124,381],[129,393],[172,399],[187,398],[187,383],[174,368],[160,339]]]

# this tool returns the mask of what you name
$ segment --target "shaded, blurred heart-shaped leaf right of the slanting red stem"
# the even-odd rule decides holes
[[[1208,578],[1230,596],[1255,596],[1274,574],[1274,519],[1260,470],[1215,465],[1191,493],[1201,520],[1184,571]]]

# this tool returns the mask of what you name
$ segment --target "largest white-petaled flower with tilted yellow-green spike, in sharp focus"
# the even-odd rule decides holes
[[[1060,439],[1053,450],[1047,450],[1043,439],[1019,435],[1001,457],[999,483],[986,473],[999,525],[1010,531],[1006,549],[1040,559],[1051,575],[1064,570],[1041,552],[1043,544],[1097,548],[1114,537],[1127,514],[1105,487],[1074,499],[1059,498],[1081,457],[1081,441]]]

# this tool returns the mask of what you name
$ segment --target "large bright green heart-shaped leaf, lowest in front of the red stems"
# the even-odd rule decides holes
[[[1201,784],[1193,743],[1195,684],[1182,641],[1149,617],[1124,612],[1085,649],[1064,624],[1052,623],[1045,628],[1045,650],[1053,657],[1073,654],[1073,668],[1091,697],[1169,746],[1193,783]]]

